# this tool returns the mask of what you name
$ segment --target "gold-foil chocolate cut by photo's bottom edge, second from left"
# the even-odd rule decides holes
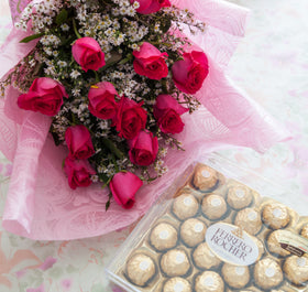
[[[213,271],[205,271],[196,278],[196,292],[223,292],[224,283],[221,277]]]

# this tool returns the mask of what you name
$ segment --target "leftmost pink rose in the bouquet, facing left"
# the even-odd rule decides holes
[[[48,77],[34,79],[28,94],[20,95],[18,106],[22,109],[55,116],[63,105],[63,97],[68,97],[64,86]]]

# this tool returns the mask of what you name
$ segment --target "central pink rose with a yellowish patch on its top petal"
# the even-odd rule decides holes
[[[88,94],[89,111],[99,119],[112,119],[118,110],[114,96],[118,96],[118,93],[111,83],[103,82],[91,86]]]

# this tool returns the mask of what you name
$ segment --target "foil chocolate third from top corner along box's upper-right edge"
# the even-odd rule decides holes
[[[286,206],[279,203],[270,203],[263,208],[262,219],[271,228],[280,229],[288,225],[290,217]]]

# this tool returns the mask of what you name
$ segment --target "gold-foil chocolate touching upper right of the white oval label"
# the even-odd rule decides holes
[[[250,235],[256,235],[262,227],[260,213],[254,208],[241,209],[237,214],[234,224]]]

